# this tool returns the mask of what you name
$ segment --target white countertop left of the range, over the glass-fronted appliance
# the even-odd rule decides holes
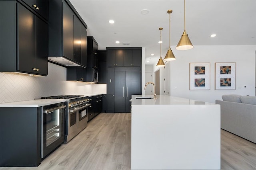
[[[20,102],[1,103],[0,107],[41,107],[56,103],[66,102],[64,99],[38,99]]]

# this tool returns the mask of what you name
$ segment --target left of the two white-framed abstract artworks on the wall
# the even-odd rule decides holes
[[[210,90],[210,63],[189,63],[189,90]]]

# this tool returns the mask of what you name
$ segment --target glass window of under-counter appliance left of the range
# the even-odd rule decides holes
[[[61,137],[61,109],[46,114],[46,147]]]

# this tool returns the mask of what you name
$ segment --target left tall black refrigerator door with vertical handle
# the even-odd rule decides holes
[[[125,112],[125,71],[115,71],[114,94],[115,94],[115,113]]]

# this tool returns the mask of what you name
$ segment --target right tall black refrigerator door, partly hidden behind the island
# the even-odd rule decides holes
[[[132,95],[141,94],[141,78],[140,71],[126,71],[125,74],[125,84],[126,84],[126,102],[125,102],[125,112],[130,113],[131,102],[130,99]]]

